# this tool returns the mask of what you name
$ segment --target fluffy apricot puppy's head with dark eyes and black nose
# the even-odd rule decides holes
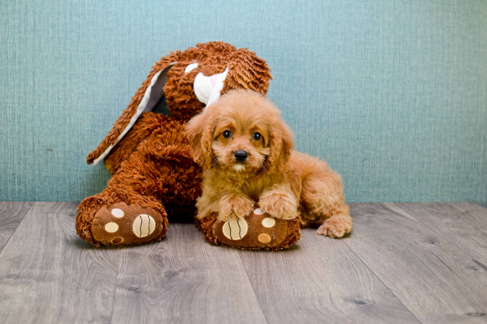
[[[293,149],[292,133],[279,115],[257,92],[228,92],[186,126],[195,162],[234,173],[279,172]]]

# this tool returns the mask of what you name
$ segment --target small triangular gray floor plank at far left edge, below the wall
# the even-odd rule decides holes
[[[0,201],[0,252],[31,206],[32,201]]]

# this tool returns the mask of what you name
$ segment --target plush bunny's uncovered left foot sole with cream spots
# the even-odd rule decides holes
[[[103,205],[91,225],[93,238],[103,245],[127,245],[159,241],[165,235],[167,217],[150,207],[117,202]]]

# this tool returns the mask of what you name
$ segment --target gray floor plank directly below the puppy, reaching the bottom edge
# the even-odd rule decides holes
[[[303,229],[297,246],[242,251],[268,323],[419,323],[346,246]]]

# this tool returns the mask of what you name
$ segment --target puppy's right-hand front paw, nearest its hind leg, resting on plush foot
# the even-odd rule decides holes
[[[294,219],[298,216],[298,200],[289,185],[275,184],[260,194],[259,207],[274,217]]]

